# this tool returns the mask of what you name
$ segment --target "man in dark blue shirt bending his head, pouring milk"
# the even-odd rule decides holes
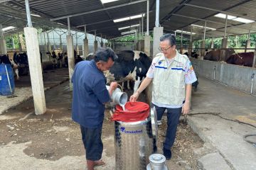
[[[105,103],[110,101],[117,82],[107,91],[104,71],[110,69],[117,55],[111,48],[97,50],[94,60],[82,61],[75,66],[73,77],[72,118],[80,124],[82,142],[85,146],[87,169],[103,165],[101,140]]]

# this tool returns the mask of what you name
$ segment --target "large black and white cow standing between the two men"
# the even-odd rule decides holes
[[[122,82],[127,81],[127,89],[130,89],[129,81],[134,82],[134,91],[139,89],[139,84],[146,77],[146,72],[151,65],[151,58],[144,52],[124,50],[116,53],[118,59],[114,61],[114,65],[109,71],[105,72],[107,83],[110,81]],[[92,54],[86,57],[86,60],[92,60]]]

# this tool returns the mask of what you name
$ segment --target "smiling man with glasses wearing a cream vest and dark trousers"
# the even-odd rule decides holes
[[[166,159],[171,159],[171,147],[174,145],[178,119],[181,113],[186,115],[190,109],[192,83],[197,79],[188,57],[176,50],[175,35],[162,35],[159,50],[160,53],[154,57],[146,79],[130,97],[130,101],[137,101],[139,94],[153,80],[152,104],[156,108],[158,121],[167,110],[168,127],[163,152]],[[156,149],[154,142],[154,152]]]

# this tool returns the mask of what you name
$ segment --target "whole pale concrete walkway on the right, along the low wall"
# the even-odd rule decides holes
[[[199,83],[192,95],[188,125],[213,145],[207,154],[218,152],[218,162],[224,160],[230,169],[256,169],[256,147],[243,140],[244,135],[256,134],[256,97],[202,77]],[[219,163],[212,160],[203,159],[204,169],[216,168]]]

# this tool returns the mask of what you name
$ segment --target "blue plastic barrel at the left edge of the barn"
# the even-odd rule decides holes
[[[0,64],[0,95],[14,94],[14,72],[11,64]]]

